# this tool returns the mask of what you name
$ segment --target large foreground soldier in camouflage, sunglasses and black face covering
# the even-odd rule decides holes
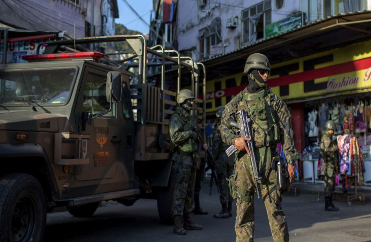
[[[270,230],[274,241],[289,241],[286,216],[281,207],[281,191],[277,189],[275,164],[276,144],[283,145],[288,162],[290,182],[295,178],[295,149],[290,135],[290,114],[286,104],[270,88],[266,88],[270,71],[269,60],[263,54],[252,54],[247,58],[244,73],[249,86],[237,94],[225,107],[220,124],[221,139],[235,145],[236,165],[233,185],[237,193],[236,241],[253,241],[254,236],[254,192],[260,187],[267,210]],[[236,112],[246,110],[252,118],[255,143],[255,158],[262,179],[254,183],[250,152],[246,141],[249,138],[236,135],[230,121],[237,121]]]

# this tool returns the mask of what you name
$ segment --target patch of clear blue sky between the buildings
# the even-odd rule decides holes
[[[150,24],[150,16],[152,10],[152,0],[127,0],[128,3],[142,16],[142,18]],[[149,32],[149,27],[142,23],[141,20],[128,8],[123,0],[117,0],[119,18],[116,19],[116,23],[124,24],[131,30],[137,30],[143,34]]]

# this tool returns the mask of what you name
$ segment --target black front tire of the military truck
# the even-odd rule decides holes
[[[0,241],[43,240],[46,198],[40,182],[29,174],[0,178]]]

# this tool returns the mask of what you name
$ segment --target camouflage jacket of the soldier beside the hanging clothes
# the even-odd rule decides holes
[[[325,132],[321,138],[321,157],[324,159],[324,164],[337,168],[338,165],[338,145],[332,140],[329,133]]]

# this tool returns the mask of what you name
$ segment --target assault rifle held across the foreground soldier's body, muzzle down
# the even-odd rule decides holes
[[[250,141],[246,141],[247,148],[250,151],[250,161],[251,161],[251,167],[253,172],[253,178],[256,185],[256,192],[257,192],[257,198],[260,198],[260,191],[259,191],[259,185],[257,184],[258,181],[260,181],[261,177],[259,176],[259,172],[257,171],[256,167],[256,159],[255,159],[255,151],[254,151],[254,140],[251,132],[251,118],[249,113],[246,110],[240,110],[237,112],[237,115],[240,118],[240,122],[236,121],[229,121],[229,126],[237,128],[237,135],[240,137],[247,137],[250,138]],[[231,145],[226,149],[226,153],[228,157],[232,155],[237,150],[236,146]]]

